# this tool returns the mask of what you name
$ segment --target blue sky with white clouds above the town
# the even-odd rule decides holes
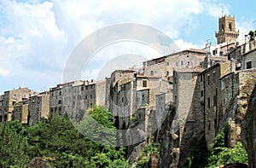
[[[166,55],[202,49],[207,41],[216,43],[218,17],[230,14],[236,16],[242,42],[247,32],[256,29],[255,6],[254,0],[2,0],[0,94],[18,87],[41,92],[67,82],[63,72],[79,43],[116,24],[142,24],[163,32],[177,45],[177,49],[166,50]],[[143,36],[150,37],[145,32]],[[142,61],[161,55],[154,47],[136,41],[106,43],[84,64],[79,78],[100,80],[114,69],[142,67]]]

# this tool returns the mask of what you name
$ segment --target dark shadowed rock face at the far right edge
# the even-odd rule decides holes
[[[256,167],[256,87],[249,98],[247,113],[241,123],[241,141],[247,150],[249,167]]]

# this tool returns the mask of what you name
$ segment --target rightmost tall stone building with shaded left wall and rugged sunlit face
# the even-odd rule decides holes
[[[220,78],[221,97],[218,127],[229,126],[229,146],[241,141],[241,123],[247,113],[248,103],[256,84],[256,69],[231,72]],[[220,129],[219,129],[220,130]],[[218,131],[219,131],[218,130]]]

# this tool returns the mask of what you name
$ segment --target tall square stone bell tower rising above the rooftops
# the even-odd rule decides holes
[[[235,16],[222,16],[218,18],[218,32],[215,32],[217,43],[236,41],[239,31],[236,32]]]

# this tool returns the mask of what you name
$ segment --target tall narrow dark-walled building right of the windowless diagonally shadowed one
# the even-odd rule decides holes
[[[230,73],[230,61],[215,64],[201,72],[203,78],[203,94],[204,94],[204,115],[205,115],[205,136],[207,140],[207,148],[210,149],[214,137],[218,134],[218,113],[222,101],[220,78]]]

